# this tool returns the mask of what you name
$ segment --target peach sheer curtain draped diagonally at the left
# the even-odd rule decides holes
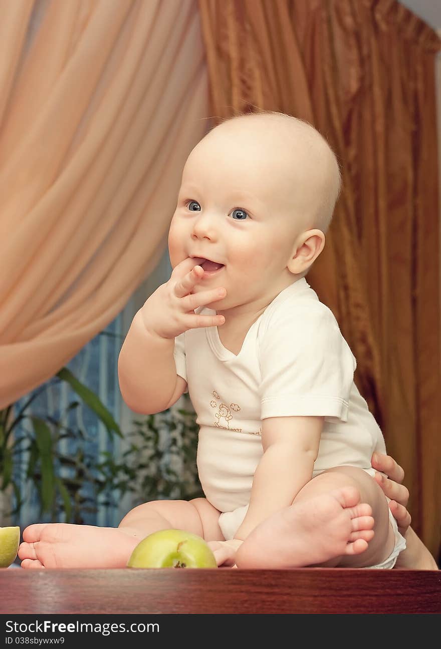
[[[0,409],[160,259],[207,130],[195,0],[0,0]]]

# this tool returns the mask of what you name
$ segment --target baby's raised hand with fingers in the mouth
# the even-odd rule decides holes
[[[225,322],[223,315],[199,315],[199,306],[221,300],[227,295],[223,287],[192,294],[204,275],[197,265],[203,259],[186,258],[173,269],[170,280],[162,284],[140,309],[145,328],[162,338],[175,338],[188,329],[218,326]]]

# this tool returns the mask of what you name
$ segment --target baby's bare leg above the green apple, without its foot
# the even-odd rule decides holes
[[[133,528],[145,535],[157,530],[186,530],[206,541],[223,541],[218,525],[220,511],[207,498],[193,500],[152,500],[138,505],[124,517],[120,527]]]

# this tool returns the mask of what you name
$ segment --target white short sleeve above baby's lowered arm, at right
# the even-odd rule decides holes
[[[271,315],[259,350],[261,417],[347,421],[357,363],[321,302]]]

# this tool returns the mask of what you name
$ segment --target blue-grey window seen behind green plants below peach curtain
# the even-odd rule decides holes
[[[168,257],[168,251],[158,263],[155,271],[149,275],[147,280],[132,295],[127,306],[107,328],[94,337],[67,365],[75,376],[91,389],[108,408],[115,421],[120,424],[123,434],[133,430],[132,420],[134,417],[140,419],[142,415],[132,413],[125,406],[118,385],[118,356],[120,353],[123,339],[129,330],[132,318],[136,311],[144,304],[145,300],[153,293],[160,284],[163,284],[170,278],[171,265]],[[77,434],[75,439],[64,437],[58,442],[58,453],[66,458],[66,465],[60,468],[60,475],[64,478],[70,478],[72,489],[75,491],[73,481],[77,483],[77,496],[93,497],[92,488],[86,486],[84,472],[74,469],[68,465],[77,462],[77,467],[81,466],[81,456],[88,458],[91,463],[96,463],[101,454],[105,451],[110,452],[115,459],[120,458],[121,451],[124,448],[124,440],[120,440],[117,435],[109,437],[105,426],[99,421],[93,411],[80,403],[76,408],[68,411],[69,404],[79,401],[79,398],[70,386],[65,382],[54,382],[50,380],[45,386],[40,386],[36,391],[40,395],[32,402],[31,411],[35,416],[41,416],[46,419],[48,416],[55,420],[63,422],[71,430],[83,430],[86,433],[86,439],[82,440]],[[34,393],[36,392],[34,391]],[[32,393],[31,393],[32,394]],[[18,402],[18,407],[23,406],[29,399],[30,395],[22,397]],[[25,421],[19,434],[32,434],[32,425],[30,421]],[[17,471],[15,478],[19,484],[22,498],[25,502],[21,511],[16,515],[13,524],[17,524],[23,530],[25,526],[33,522],[49,522],[51,516],[39,515],[38,495],[32,486],[32,482],[26,480],[23,469],[29,463],[29,452],[21,450],[21,471]],[[87,461],[84,461],[87,464]],[[112,504],[112,500],[114,500]],[[110,504],[108,504],[110,502]],[[114,494],[102,494],[97,502],[97,511],[91,506],[92,502],[77,503],[81,509],[81,522],[89,525],[98,526],[118,526],[121,518],[131,509],[131,500],[129,497],[118,502]],[[62,516],[57,516],[58,522],[63,522]],[[79,521],[78,521],[79,522]]]

